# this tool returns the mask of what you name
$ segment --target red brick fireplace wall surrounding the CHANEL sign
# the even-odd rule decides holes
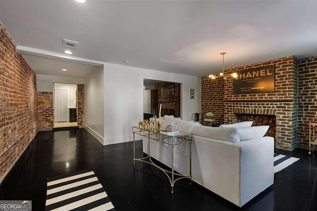
[[[262,67],[267,65],[275,66],[275,89],[274,93],[258,94],[233,94],[233,79],[223,80],[223,84],[213,81],[208,77],[202,78],[202,113],[206,111],[217,111],[216,103],[206,103],[205,96],[217,92],[215,98],[220,99],[223,89],[223,121],[225,124],[237,122],[234,115],[237,114],[269,114],[276,116],[276,148],[293,150],[297,146],[297,89],[298,89],[298,63],[293,56],[274,59],[257,64],[245,65],[225,70],[225,74],[239,72],[240,70]],[[213,85],[211,85],[213,84]],[[204,96],[204,97],[203,97]],[[220,120],[221,122],[221,120]]]

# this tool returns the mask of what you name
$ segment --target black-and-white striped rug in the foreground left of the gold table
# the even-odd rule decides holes
[[[115,211],[94,171],[48,179],[46,211]]]

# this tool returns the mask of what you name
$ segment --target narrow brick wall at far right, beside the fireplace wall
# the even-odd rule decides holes
[[[317,123],[317,55],[298,63],[298,146],[308,149],[309,122]]]

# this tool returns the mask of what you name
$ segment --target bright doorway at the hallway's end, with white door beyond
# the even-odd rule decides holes
[[[77,84],[53,83],[54,126],[78,127]]]

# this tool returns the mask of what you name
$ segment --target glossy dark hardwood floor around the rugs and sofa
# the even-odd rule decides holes
[[[102,146],[85,129],[38,132],[1,182],[0,200],[32,200],[33,211],[44,211],[47,178],[91,169],[116,211],[308,211],[317,153],[276,152],[300,160],[275,173],[272,186],[238,208],[195,182],[190,185],[187,179],[177,181],[171,194],[160,170],[142,162],[133,166],[133,142]],[[136,154],[143,156],[141,141],[136,142]]]

